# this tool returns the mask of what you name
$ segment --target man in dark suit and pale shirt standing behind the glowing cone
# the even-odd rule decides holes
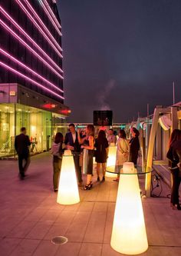
[[[78,142],[78,135],[77,131],[75,131],[75,125],[70,124],[69,125],[70,132],[67,132],[64,138],[64,144],[66,145],[67,149],[70,149],[72,151],[72,155],[74,156],[74,165],[75,170],[77,172],[77,178],[78,178],[78,185],[82,185],[82,174],[81,174],[81,166],[80,166],[80,152],[81,152],[81,146]]]

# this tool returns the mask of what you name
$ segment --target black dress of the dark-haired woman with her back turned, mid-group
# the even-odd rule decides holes
[[[99,140],[98,138],[95,141],[96,147],[96,162],[97,163],[106,163],[107,162],[107,151],[109,144],[107,138],[104,140]]]

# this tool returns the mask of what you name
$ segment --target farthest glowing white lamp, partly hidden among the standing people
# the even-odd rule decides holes
[[[109,151],[108,151],[108,158],[107,158],[107,167],[115,166],[116,165],[116,158],[117,158],[117,146],[114,143],[110,143]],[[110,178],[117,178],[117,175],[106,171],[106,177]]]

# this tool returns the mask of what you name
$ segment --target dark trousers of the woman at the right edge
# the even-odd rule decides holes
[[[171,203],[179,204],[179,185],[181,181],[179,168],[171,171],[172,176],[172,191],[171,191]]]

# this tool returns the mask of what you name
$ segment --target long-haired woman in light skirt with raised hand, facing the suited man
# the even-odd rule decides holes
[[[85,133],[86,137],[81,138],[80,131],[78,131],[78,141],[81,144],[81,148],[84,148],[83,173],[87,174],[87,182],[86,185],[84,185],[84,190],[89,190],[92,188],[94,125],[87,125]]]

